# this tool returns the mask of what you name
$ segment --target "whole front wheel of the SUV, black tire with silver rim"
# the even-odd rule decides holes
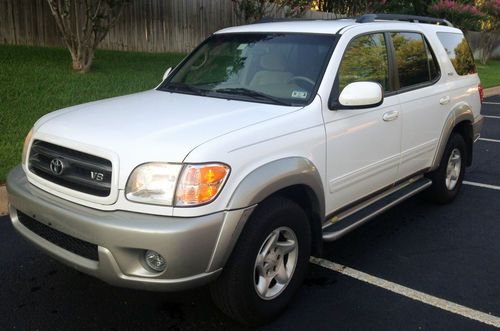
[[[272,197],[255,210],[221,276],[210,287],[227,315],[246,325],[276,317],[300,287],[311,237],[304,210]]]

